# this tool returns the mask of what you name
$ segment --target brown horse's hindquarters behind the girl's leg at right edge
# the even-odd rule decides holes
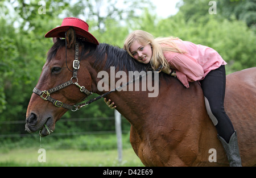
[[[256,164],[256,67],[226,76],[225,110],[237,130],[243,165]]]

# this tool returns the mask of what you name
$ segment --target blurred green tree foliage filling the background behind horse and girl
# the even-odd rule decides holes
[[[159,18],[146,1],[123,1],[121,7],[115,0],[44,2],[46,14],[38,13],[41,5],[37,0],[0,2],[0,121],[24,121],[32,89],[52,45],[52,39],[45,39],[44,34],[60,25],[65,16],[86,20],[100,43],[122,48],[129,32],[141,29],[155,37],[177,36],[216,49],[228,62],[228,73],[256,66],[253,0],[217,1],[215,15],[208,12],[209,1],[183,0],[179,13],[168,18]],[[100,100],[84,110],[68,112],[64,118],[108,117],[113,113]],[[5,128],[6,132],[11,130],[15,129]]]

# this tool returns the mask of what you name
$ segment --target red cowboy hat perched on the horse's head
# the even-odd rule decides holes
[[[98,40],[88,32],[88,23],[75,17],[64,18],[60,27],[56,27],[51,31],[48,31],[44,37],[65,38],[65,32],[67,32],[70,27],[73,27],[76,31],[77,38],[81,38],[89,43],[98,44]]]

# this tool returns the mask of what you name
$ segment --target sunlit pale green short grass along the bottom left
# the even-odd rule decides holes
[[[38,149],[27,148],[0,153],[0,166],[143,166],[132,148],[123,150],[120,164],[117,150],[80,151],[46,149],[46,162],[38,162]]]

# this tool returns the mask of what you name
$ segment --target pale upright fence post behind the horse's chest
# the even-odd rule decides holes
[[[121,114],[115,110],[115,133],[117,135],[118,162],[122,163],[122,127]]]

